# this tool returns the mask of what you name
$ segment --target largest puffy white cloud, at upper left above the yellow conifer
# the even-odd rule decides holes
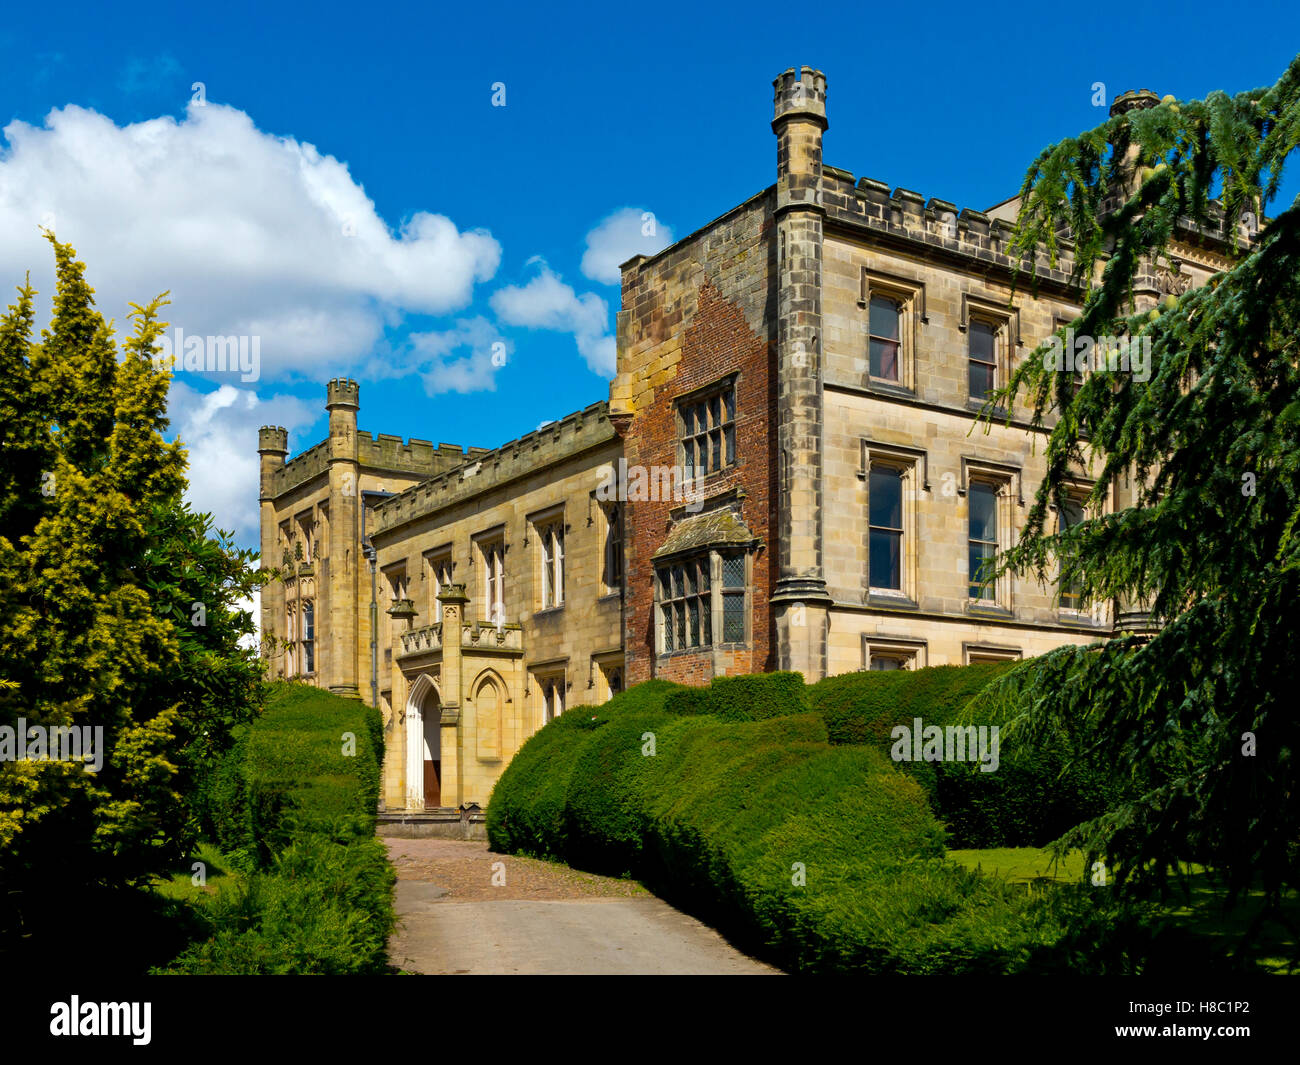
[[[441,215],[394,234],[344,163],[212,101],[127,126],[70,105],[4,135],[0,282],[31,270],[49,306],[48,224],[105,316],[125,325],[129,300],[170,289],[173,329],[260,337],[266,377],[348,371],[406,313],[465,307],[500,261],[489,233]]]

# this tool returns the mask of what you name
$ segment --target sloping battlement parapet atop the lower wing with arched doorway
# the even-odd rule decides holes
[[[610,404],[601,401],[500,447],[472,447],[460,466],[380,503],[374,510],[374,536],[616,438]]]

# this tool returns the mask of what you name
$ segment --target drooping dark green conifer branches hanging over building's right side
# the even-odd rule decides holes
[[[1076,333],[1152,341],[1149,380],[1097,369],[1075,391],[1043,346],[991,402],[1023,394],[1036,425],[1056,419],[998,571],[1053,581],[1060,564],[1062,585],[1145,607],[1158,629],[1062,648],[992,689],[1024,711],[1014,741],[1083,722],[1112,770],[1144,784],[1065,840],[1128,897],[1162,891],[1178,860],[1231,893],[1256,875],[1274,901],[1296,886],[1300,202],[1264,215],[1297,140],[1300,59],[1270,88],[1115,114],[1044,151],[1020,192],[1022,261],[1072,244]],[[1228,268],[1136,312],[1173,242],[1206,237],[1227,242]],[[1080,471],[1097,510],[1061,532],[1053,511]],[[1126,484],[1136,505],[1100,512]]]

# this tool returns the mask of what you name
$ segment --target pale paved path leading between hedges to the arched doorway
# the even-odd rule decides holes
[[[777,971],[630,880],[493,854],[486,843],[384,843],[398,871],[389,956],[408,973]]]

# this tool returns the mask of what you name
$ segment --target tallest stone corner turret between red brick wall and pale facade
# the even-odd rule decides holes
[[[775,87],[777,573],[772,589],[779,668],[826,676],[822,567],[822,134],[826,77],[790,69]]]

